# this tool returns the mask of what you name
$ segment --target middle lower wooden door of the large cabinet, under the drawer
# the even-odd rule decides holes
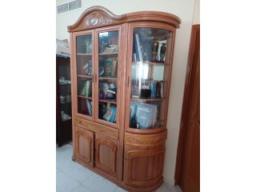
[[[95,133],[95,166],[116,178],[120,173],[118,141]]]

